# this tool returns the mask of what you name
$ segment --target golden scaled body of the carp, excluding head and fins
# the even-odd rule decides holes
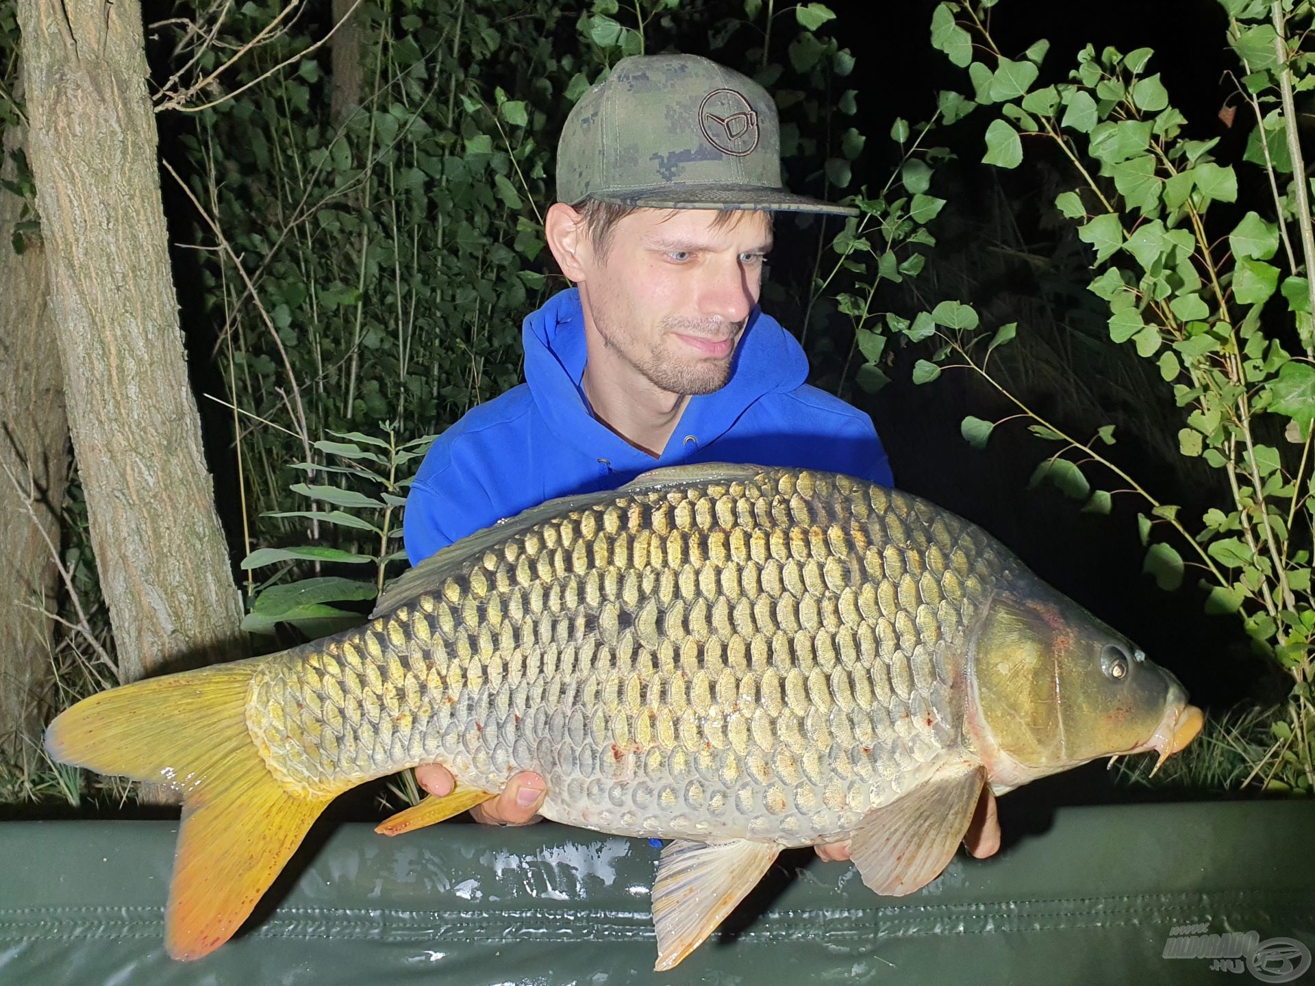
[[[247,722],[275,777],[529,769],[560,822],[802,845],[965,756],[961,642],[1015,565],[970,525],[784,469],[576,504],[264,665]]]

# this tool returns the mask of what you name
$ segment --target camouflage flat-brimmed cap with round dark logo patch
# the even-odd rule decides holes
[[[622,58],[571,110],[558,143],[558,201],[654,209],[853,216],[781,187],[776,103],[698,55]]]

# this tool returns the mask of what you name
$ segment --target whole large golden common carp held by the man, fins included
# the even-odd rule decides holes
[[[544,816],[672,840],[669,969],[782,848],[851,839],[868,886],[907,894],[985,785],[1162,761],[1201,724],[980,527],[847,476],[715,464],[533,507],[405,573],[362,627],[92,695],[46,747],[181,790],[178,958],[237,931],[334,797],[439,763],[456,789],[381,831],[538,770]]]

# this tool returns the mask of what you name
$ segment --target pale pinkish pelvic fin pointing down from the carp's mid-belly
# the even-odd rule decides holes
[[[736,839],[730,843],[669,843],[654,880],[658,972],[672,969],[713,933],[753,889],[781,848]]]

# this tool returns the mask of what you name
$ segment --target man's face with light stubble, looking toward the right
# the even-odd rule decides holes
[[[590,250],[581,297],[604,344],[659,389],[711,393],[757,304],[772,234],[763,213],[714,229],[707,209],[640,209]]]

